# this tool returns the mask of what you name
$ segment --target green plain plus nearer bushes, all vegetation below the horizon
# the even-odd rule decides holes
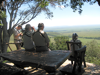
[[[50,32],[49,32],[50,31]],[[51,50],[67,50],[67,45],[65,41],[71,40],[73,33],[77,33],[79,40],[81,40],[82,45],[86,45],[86,61],[100,65],[100,26],[91,26],[91,27],[70,27],[70,28],[58,28],[48,30],[48,35],[51,37],[50,49]],[[64,36],[61,39],[60,37]],[[68,37],[69,38],[68,38]],[[56,38],[56,40],[55,40]],[[62,41],[62,42],[61,42]],[[66,48],[65,48],[66,47]]]

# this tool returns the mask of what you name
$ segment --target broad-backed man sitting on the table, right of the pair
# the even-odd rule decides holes
[[[44,24],[39,23],[38,24],[38,30],[33,33],[32,38],[33,41],[35,42],[36,46],[36,51],[48,51],[49,47],[49,38],[46,32],[43,31],[44,29]]]

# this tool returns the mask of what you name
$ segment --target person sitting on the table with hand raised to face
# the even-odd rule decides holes
[[[32,41],[32,28],[35,31],[34,27],[31,27],[30,24],[27,24],[23,33],[23,43],[26,51],[35,51],[35,44]]]

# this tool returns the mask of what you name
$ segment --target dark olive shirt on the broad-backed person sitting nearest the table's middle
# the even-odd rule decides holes
[[[33,41],[35,42],[36,46],[46,46],[47,43],[49,43],[49,38],[46,32],[42,31],[41,32],[35,32],[33,33],[32,36]]]

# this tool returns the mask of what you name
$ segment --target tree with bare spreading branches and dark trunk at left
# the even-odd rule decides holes
[[[2,44],[0,45],[2,53],[7,52],[6,43],[9,43],[13,29],[17,25],[24,25],[30,22],[42,11],[46,13],[48,18],[52,17],[52,12],[50,12],[48,4],[48,1],[45,0],[7,0],[3,2],[1,6],[3,10],[1,11],[5,14],[8,12],[9,22],[7,22],[6,17],[0,18],[3,22],[3,37],[1,38],[3,41],[0,41],[0,44]],[[20,9],[22,6],[27,6],[27,9]],[[15,24],[13,25],[13,23]]]

